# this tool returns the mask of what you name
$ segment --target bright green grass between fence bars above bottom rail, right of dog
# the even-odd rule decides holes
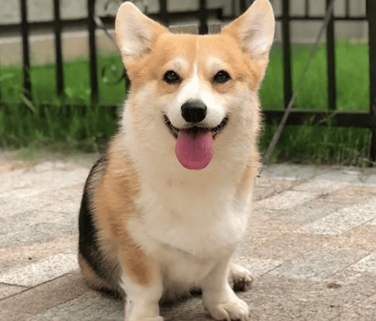
[[[311,45],[292,47],[292,86],[296,88],[306,67]],[[326,50],[321,45],[310,62],[303,87],[296,97],[296,109],[327,109]],[[336,88],[338,111],[369,109],[368,45],[349,42],[336,44]],[[260,90],[262,106],[281,109],[283,106],[283,57],[278,46],[270,54],[269,67]]]

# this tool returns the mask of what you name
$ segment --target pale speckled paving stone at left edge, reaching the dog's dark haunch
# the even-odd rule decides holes
[[[50,258],[0,274],[0,282],[27,287],[55,279],[78,269],[77,253],[59,253]]]

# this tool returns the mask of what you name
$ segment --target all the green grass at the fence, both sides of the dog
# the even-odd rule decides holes
[[[305,67],[310,45],[292,47],[293,86],[296,86]],[[124,82],[105,84],[100,79],[106,65],[106,76],[116,79],[123,67],[119,56],[98,57],[98,90],[100,104],[121,104]],[[117,73],[116,73],[117,70]],[[368,45],[336,44],[336,84],[338,110],[368,110]],[[68,104],[90,102],[89,63],[85,60],[64,65],[65,100]],[[118,117],[110,116],[105,107],[88,107],[84,113],[78,107],[67,109],[56,94],[54,65],[31,68],[32,102],[22,101],[22,70],[20,66],[0,68],[0,146],[20,148],[54,146],[95,151],[116,132]],[[324,47],[310,63],[303,88],[296,99],[296,109],[326,110],[326,56]],[[283,106],[283,60],[278,46],[273,47],[269,68],[260,90],[265,109]],[[13,102],[13,103],[9,103]],[[51,106],[45,107],[45,104]],[[271,141],[276,125],[264,125],[260,141],[262,154]],[[315,164],[366,165],[370,131],[357,128],[286,126],[273,152],[271,162],[301,162]]]

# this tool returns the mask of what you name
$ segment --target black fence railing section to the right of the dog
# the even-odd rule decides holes
[[[334,0],[336,1],[336,0]],[[326,0],[328,8],[331,0]],[[290,22],[294,20],[319,20],[324,16],[311,16],[309,13],[309,1],[305,1],[304,15],[289,14],[289,0],[282,0],[283,14],[276,17],[282,22],[283,33],[283,93],[284,107],[287,107],[292,97],[292,68],[291,68],[291,41]],[[369,128],[371,131],[370,157],[376,160],[376,1],[366,0],[365,16],[349,15],[349,0],[345,0],[345,15],[333,16],[326,28],[326,65],[327,65],[327,88],[328,102],[327,111],[315,110],[292,110],[287,120],[287,125],[303,125],[308,121],[325,125],[327,121],[338,127],[361,127]],[[334,45],[334,22],[336,21],[367,21],[368,22],[368,44],[369,44],[369,77],[370,77],[370,106],[369,111],[337,111],[336,107],[336,63]],[[351,80],[349,80],[351,81]],[[263,110],[266,123],[279,123],[283,118],[283,110]]]

